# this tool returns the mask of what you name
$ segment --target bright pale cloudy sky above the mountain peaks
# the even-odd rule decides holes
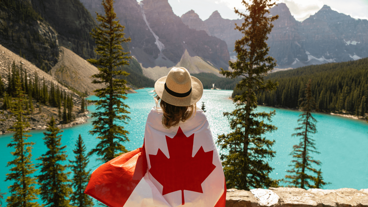
[[[176,15],[194,10],[202,20],[208,19],[213,11],[219,11],[224,19],[238,19],[234,13],[234,7],[245,11],[241,0],[168,0]],[[368,0],[278,0],[277,3],[285,3],[291,15],[298,21],[307,19],[315,14],[324,4],[332,10],[350,15],[356,19],[368,19]]]

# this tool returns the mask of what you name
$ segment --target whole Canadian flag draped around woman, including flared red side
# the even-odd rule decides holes
[[[143,147],[99,166],[84,193],[110,207],[225,207],[224,173],[204,112],[170,129],[162,115],[154,107]]]

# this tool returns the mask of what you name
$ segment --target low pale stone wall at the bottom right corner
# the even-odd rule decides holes
[[[368,207],[368,189],[228,189],[226,207]]]

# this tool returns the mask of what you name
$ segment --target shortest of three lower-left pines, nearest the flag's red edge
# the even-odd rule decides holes
[[[92,198],[84,193],[84,190],[87,187],[89,181],[89,171],[86,171],[86,167],[88,164],[88,157],[85,154],[86,147],[84,145],[81,134],[78,136],[77,144],[75,144],[75,150],[73,150],[75,154],[75,161],[69,160],[69,162],[74,163],[71,165],[71,169],[74,172],[72,186],[74,188],[74,192],[70,197],[73,206],[76,207],[92,207],[93,202]]]

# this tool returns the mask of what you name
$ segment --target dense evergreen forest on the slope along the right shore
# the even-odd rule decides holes
[[[368,58],[271,73],[265,80],[279,82],[279,86],[276,91],[258,92],[258,105],[298,108],[309,79],[319,111],[367,116]],[[232,97],[238,94],[235,88]]]

